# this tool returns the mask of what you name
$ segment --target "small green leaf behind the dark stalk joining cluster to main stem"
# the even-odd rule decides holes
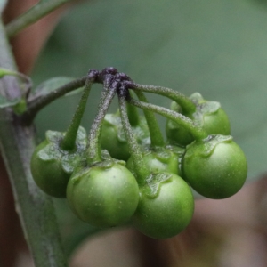
[[[59,87],[69,84],[70,82],[74,81],[74,77],[53,77],[51,79],[48,79],[44,81],[41,85],[38,85],[36,89],[34,90],[34,93],[32,93],[31,98],[38,98],[40,96],[44,96],[48,93],[53,92],[54,90],[58,89]],[[73,95],[76,93],[80,93],[83,90],[83,88],[79,88],[77,90],[74,90],[70,93],[66,93],[65,96]]]

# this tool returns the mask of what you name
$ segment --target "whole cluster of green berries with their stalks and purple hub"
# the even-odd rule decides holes
[[[80,122],[94,83],[103,90],[87,137]],[[150,104],[143,92],[170,98],[171,109]],[[119,109],[108,114],[116,94]],[[166,141],[155,113],[167,118]],[[206,198],[228,198],[244,184],[247,160],[229,134],[218,102],[199,93],[186,97],[138,85],[114,68],[93,69],[67,132],[46,133],[31,171],[45,193],[67,198],[84,222],[97,227],[132,223],[145,235],[166,239],[190,223],[190,187]]]

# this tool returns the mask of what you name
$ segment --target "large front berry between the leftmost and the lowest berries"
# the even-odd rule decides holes
[[[130,220],[138,205],[139,188],[125,166],[100,163],[71,176],[67,199],[82,221],[97,227],[111,227]]]

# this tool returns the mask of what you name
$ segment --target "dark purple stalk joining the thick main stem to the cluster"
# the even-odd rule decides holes
[[[28,103],[28,110],[22,115],[23,120],[26,121],[28,125],[31,124],[33,119],[36,117],[38,111],[43,109],[52,101],[60,98],[62,95],[74,91],[77,88],[80,88],[81,86],[85,85],[86,78],[87,77],[79,78],[70,82],[69,84],[62,85],[61,87],[55,89],[53,92],[33,99]]]

